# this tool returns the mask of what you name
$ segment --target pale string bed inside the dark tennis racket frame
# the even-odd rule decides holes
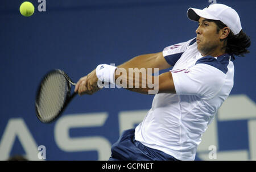
[[[44,79],[38,99],[40,118],[55,118],[64,106],[68,94],[68,82],[64,75],[56,73]]]

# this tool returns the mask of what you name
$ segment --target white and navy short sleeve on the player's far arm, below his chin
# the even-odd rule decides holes
[[[189,45],[192,45],[196,42],[196,38],[193,38],[187,42],[179,43],[175,45],[168,46],[163,49],[163,56],[171,66],[174,66],[175,63],[179,60],[181,55],[186,51]]]

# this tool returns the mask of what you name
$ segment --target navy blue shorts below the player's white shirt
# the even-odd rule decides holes
[[[179,161],[156,149],[148,148],[134,138],[135,129],[124,131],[112,146],[109,161]]]

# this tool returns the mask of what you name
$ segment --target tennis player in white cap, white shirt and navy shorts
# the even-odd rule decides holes
[[[189,8],[189,19],[198,22],[196,37],[171,45],[162,52],[144,54],[115,67],[100,64],[82,77],[75,91],[93,94],[98,81],[115,83],[118,69],[167,69],[158,77],[151,109],[135,128],[124,131],[112,146],[109,160],[195,160],[197,146],[208,124],[228,97],[234,81],[234,56],[249,53],[250,38],[242,31],[240,17],[229,6],[214,4],[200,10]],[[148,77],[148,75],[147,75]],[[133,83],[134,83],[133,82]],[[148,94],[142,88],[148,79],[139,78],[139,88],[126,89]]]

